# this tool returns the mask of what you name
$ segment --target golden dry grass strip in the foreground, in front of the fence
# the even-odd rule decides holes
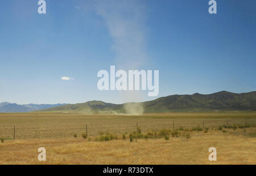
[[[191,132],[179,138],[88,141],[77,138],[7,140],[0,143],[0,164],[256,164],[256,128],[228,132]],[[47,161],[38,161],[38,148]],[[208,149],[217,149],[217,161]]]

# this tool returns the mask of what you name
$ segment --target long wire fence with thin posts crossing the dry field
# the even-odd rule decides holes
[[[85,122],[87,121],[87,122]],[[218,127],[222,125],[255,125],[256,118],[97,118],[80,119],[80,121],[58,122],[23,122],[0,126],[0,138],[5,139],[47,139],[68,138],[86,133],[96,136],[101,132],[123,134],[125,132],[159,131],[161,129],[175,130],[179,127]]]

